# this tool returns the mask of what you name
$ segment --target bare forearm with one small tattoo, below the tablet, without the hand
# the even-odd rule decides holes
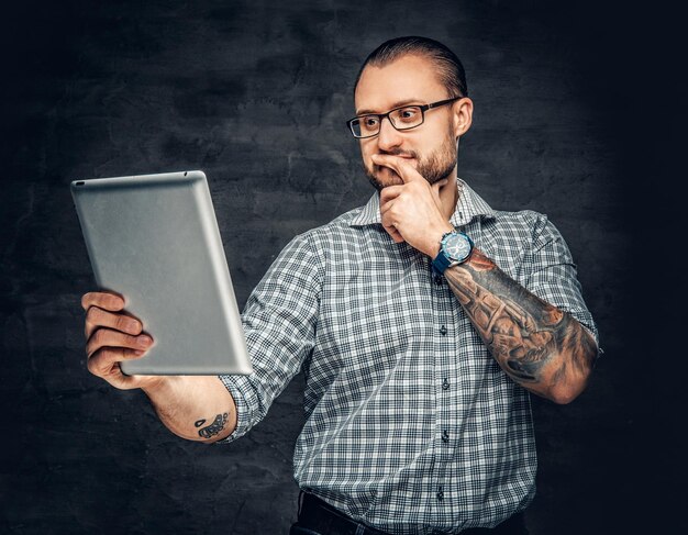
[[[217,376],[165,376],[143,390],[165,426],[182,438],[217,442],[236,426],[236,405]]]

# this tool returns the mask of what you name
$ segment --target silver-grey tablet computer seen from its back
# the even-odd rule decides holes
[[[208,181],[189,170],[73,180],[96,283],[153,336],[126,375],[253,371]]]

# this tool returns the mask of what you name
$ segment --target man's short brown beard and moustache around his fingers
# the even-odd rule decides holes
[[[444,143],[433,151],[428,157],[419,157],[419,154],[415,151],[401,151],[395,149],[390,152],[385,152],[382,154],[391,154],[393,156],[406,156],[415,159],[415,170],[431,185],[439,182],[440,180],[448,177],[454,168],[456,167],[456,159],[458,156],[458,151],[456,146],[456,141],[450,134]],[[371,164],[371,167],[368,167],[366,163],[363,163],[364,170],[368,180],[373,185],[375,189],[381,191],[382,188],[392,185],[401,185],[403,180],[401,177],[397,176],[396,171],[392,169],[378,166]],[[392,172],[392,180],[382,181],[380,179],[380,174],[382,169],[387,169],[389,172]]]

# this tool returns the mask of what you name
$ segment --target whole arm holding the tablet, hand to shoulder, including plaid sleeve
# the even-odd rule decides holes
[[[115,388],[143,389],[160,421],[184,438],[238,438],[265,417],[313,348],[320,271],[308,239],[297,236],[252,292],[242,317],[254,365],[249,376],[123,375],[120,361],[144,356],[152,341],[123,310],[121,297],[87,293],[81,305],[87,311],[88,369]]]

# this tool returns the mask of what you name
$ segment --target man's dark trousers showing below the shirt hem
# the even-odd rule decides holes
[[[462,535],[528,535],[523,513],[507,519],[497,527],[471,527]],[[299,516],[289,535],[390,535],[360,524],[313,494],[299,495]]]

